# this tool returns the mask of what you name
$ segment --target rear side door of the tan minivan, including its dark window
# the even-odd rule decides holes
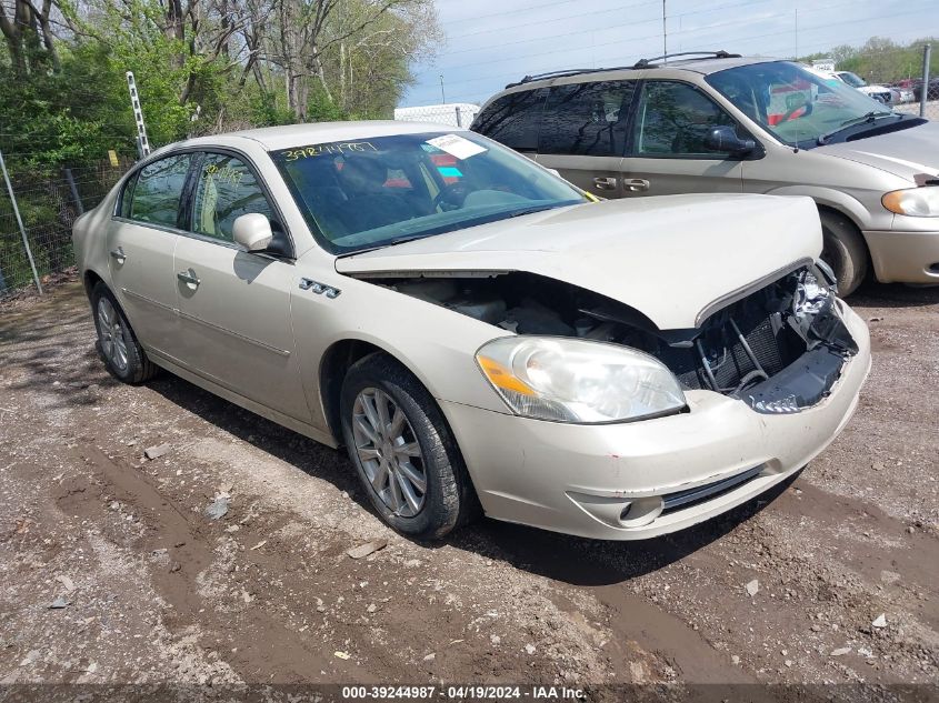
[[[538,157],[578,188],[620,198],[622,155],[636,81],[555,86],[541,117]]]

